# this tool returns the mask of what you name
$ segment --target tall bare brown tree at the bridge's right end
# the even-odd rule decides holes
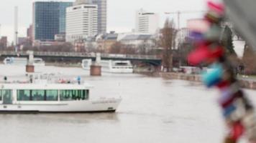
[[[173,69],[173,53],[172,49],[175,46],[175,36],[177,30],[173,20],[166,19],[165,26],[160,30],[160,46],[163,47],[163,68],[166,71]]]

